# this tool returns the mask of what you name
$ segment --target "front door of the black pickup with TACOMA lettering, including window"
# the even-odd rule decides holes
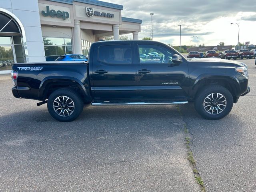
[[[143,100],[187,100],[188,66],[182,62],[172,62],[172,55],[177,54],[169,46],[156,44],[137,44],[138,56],[147,52],[156,52],[158,57],[139,58],[138,63],[138,98]]]

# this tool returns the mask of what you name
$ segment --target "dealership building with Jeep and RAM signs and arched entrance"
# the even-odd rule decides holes
[[[92,42],[108,36],[137,40],[142,20],[122,17],[122,9],[98,0],[0,0],[0,73],[13,62],[87,55]]]

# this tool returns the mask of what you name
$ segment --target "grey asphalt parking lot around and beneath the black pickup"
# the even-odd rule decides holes
[[[251,92],[216,121],[188,104],[88,106],[57,122],[0,76],[0,191],[198,192],[187,135],[206,191],[256,191],[256,66],[243,62]]]

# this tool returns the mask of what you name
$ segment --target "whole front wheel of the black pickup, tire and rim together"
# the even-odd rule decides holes
[[[217,97],[217,93],[218,93],[218,97]],[[218,99],[218,101],[216,103],[207,105],[208,102],[210,102],[208,98],[212,98],[212,95],[216,100]],[[224,96],[224,98],[222,96]],[[226,106],[224,106],[225,104]],[[219,86],[219,85],[208,86],[197,94],[196,100],[194,101],[194,106],[198,114],[200,114],[205,119],[210,119],[210,120],[221,119],[221,118],[224,118],[226,115],[228,115],[229,112],[231,111],[233,107],[233,96],[229,92],[229,90],[227,90],[222,86]],[[209,111],[207,112],[207,110]]]

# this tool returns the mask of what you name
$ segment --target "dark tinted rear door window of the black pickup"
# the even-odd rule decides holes
[[[98,60],[108,64],[132,64],[130,45],[104,45],[98,49]]]

